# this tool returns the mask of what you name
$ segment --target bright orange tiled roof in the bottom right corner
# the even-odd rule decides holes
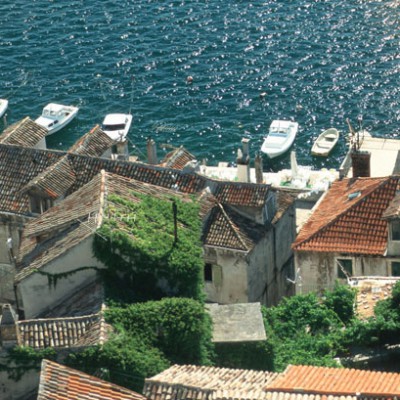
[[[289,365],[268,391],[338,396],[399,396],[400,374],[348,368]]]

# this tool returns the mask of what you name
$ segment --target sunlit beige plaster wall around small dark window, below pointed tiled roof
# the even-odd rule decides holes
[[[206,300],[219,304],[247,303],[248,277],[246,253],[206,246],[205,260],[222,270],[220,283],[205,282]]]

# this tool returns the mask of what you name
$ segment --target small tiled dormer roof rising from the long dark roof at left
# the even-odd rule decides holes
[[[33,192],[55,200],[64,196],[74,182],[74,171],[68,159],[63,157],[28,182],[21,189],[21,194]]]

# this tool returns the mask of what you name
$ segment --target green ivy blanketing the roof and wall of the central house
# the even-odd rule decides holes
[[[106,218],[94,241],[95,256],[108,267],[110,295],[123,302],[203,299],[199,205],[133,194],[140,201],[108,196]]]

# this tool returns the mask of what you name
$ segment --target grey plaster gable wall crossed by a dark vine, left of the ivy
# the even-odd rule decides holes
[[[49,262],[41,270],[60,274],[87,266],[104,268],[104,265],[92,254],[92,243],[93,237],[90,236],[64,255]],[[32,273],[18,284],[19,307],[23,308],[25,319],[35,318],[68,298],[79,287],[95,280],[96,276],[97,271],[94,269],[78,271],[68,277],[58,279],[56,287],[52,287],[49,286],[47,276]]]

